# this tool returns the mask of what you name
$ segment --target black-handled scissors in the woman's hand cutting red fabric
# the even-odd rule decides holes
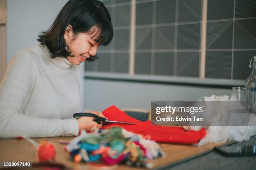
[[[106,123],[123,123],[123,124],[134,124],[134,123],[129,123],[129,122],[119,122],[119,121],[113,121],[113,120],[108,120],[108,118],[105,117],[100,117],[96,114],[93,113],[75,113],[73,114],[73,117],[75,119],[78,119],[81,116],[87,116],[87,117],[94,117],[93,121],[97,122],[97,124],[101,124],[102,122]]]

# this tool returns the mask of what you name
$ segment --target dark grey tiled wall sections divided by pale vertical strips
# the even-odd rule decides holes
[[[114,38],[85,70],[129,73],[130,0],[103,0]],[[208,0],[205,78],[246,79],[256,0]],[[136,0],[135,74],[200,77],[202,0]]]

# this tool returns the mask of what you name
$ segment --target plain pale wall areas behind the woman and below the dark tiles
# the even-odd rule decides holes
[[[8,0],[7,55],[35,46],[38,33],[49,28],[67,0]],[[83,71],[83,66],[81,66]],[[84,80],[81,76],[82,110],[103,110],[115,104],[120,108],[150,109],[151,100],[197,100],[231,90],[193,86]]]

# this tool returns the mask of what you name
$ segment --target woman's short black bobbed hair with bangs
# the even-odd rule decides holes
[[[95,30],[95,41],[101,46],[107,46],[113,38],[113,25],[108,9],[98,0],[69,0],[57,15],[51,27],[38,35],[37,41],[45,45],[51,58],[71,56],[66,50],[64,33],[68,25],[72,25],[74,34],[89,33]],[[92,29],[96,26],[98,29]],[[98,57],[91,56],[87,61],[94,61]]]

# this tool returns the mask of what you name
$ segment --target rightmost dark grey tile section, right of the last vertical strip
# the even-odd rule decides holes
[[[208,0],[206,78],[246,79],[256,55],[256,0]]]

